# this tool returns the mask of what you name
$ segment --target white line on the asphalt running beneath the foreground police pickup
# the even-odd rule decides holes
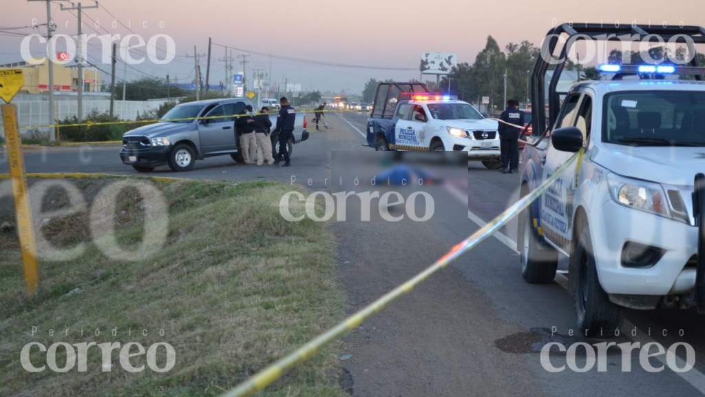
[[[463,195],[462,192],[460,192],[455,186],[450,186],[447,185],[446,189],[450,191],[453,196],[458,198],[460,201],[467,203],[467,196]],[[479,227],[483,227],[486,225],[486,222],[479,218],[479,216],[475,215],[474,213],[470,212],[470,210],[467,211],[467,218],[472,220],[472,222],[476,223]],[[504,235],[501,232],[494,232],[493,234],[496,239],[498,239],[500,242],[505,244],[509,249],[511,249],[514,252],[517,252],[517,243],[514,242],[513,239],[510,239],[506,235]],[[561,287],[565,288],[565,290],[568,290],[568,272],[567,271],[558,271],[556,273],[556,283],[560,285]],[[632,336],[631,333],[628,333],[627,336],[635,341],[640,343],[640,345],[643,347],[646,345],[646,343],[656,343],[656,340],[648,336],[647,333],[642,331],[641,329],[637,328],[634,324],[632,324],[629,320],[625,319],[624,324],[623,324],[623,329],[627,330],[632,330],[632,329],[637,329],[637,336]],[[667,356],[666,355],[658,355],[656,358],[658,361],[660,361],[663,365],[668,367],[668,362],[667,362]],[[686,365],[685,360],[682,358],[678,357],[678,355],[675,355],[675,364],[678,366],[678,368],[684,368]],[[705,395],[705,374],[700,372],[697,368],[692,368],[688,372],[673,372],[674,374],[677,374],[679,377],[681,377],[683,380],[687,381],[691,386],[693,386],[695,389],[697,389],[700,393]]]

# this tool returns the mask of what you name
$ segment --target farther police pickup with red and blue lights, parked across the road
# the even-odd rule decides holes
[[[376,150],[466,151],[468,160],[498,169],[497,127],[469,103],[428,93],[422,83],[379,83],[367,143]]]

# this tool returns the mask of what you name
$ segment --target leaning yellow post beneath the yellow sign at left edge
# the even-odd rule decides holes
[[[10,162],[10,178],[15,198],[17,230],[20,236],[22,262],[25,266],[27,292],[30,295],[34,295],[39,286],[37,247],[35,246],[32,212],[30,211],[29,196],[27,194],[27,178],[25,177],[25,163],[22,157],[22,144],[17,127],[17,107],[15,105],[2,105],[2,119],[5,127],[5,140]]]

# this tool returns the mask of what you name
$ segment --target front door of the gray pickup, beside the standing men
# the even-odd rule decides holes
[[[198,124],[201,150],[204,154],[214,154],[237,150],[233,114],[245,109],[244,102],[226,103],[214,107]]]

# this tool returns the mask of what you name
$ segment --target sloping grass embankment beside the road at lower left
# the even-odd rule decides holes
[[[116,180],[121,179],[70,181],[90,206],[97,191]],[[87,211],[52,219],[42,233],[56,247],[85,242],[86,249],[77,260],[40,261],[42,289],[32,299],[24,292],[16,232],[0,231],[1,396],[219,395],[341,318],[333,237],[320,223],[281,218],[278,201],[290,186],[154,186],[164,194],[169,214],[168,238],[157,254],[114,261],[90,242]],[[133,189],[118,196],[116,237],[122,247],[142,238],[140,200]],[[65,193],[50,191],[44,210],[67,202]],[[0,197],[0,225],[8,220],[13,222],[11,201]],[[34,336],[32,326],[39,330]],[[114,327],[117,336],[111,335]],[[30,342],[47,348],[56,342],[138,342],[145,349],[167,342],[176,350],[176,366],[163,374],[149,367],[129,373],[116,350],[111,372],[102,372],[100,350],[94,347],[87,372],[78,372],[77,365],[66,373],[47,367],[32,374],[20,365],[20,350]],[[261,395],[345,396],[337,384],[340,347],[325,349]],[[63,348],[58,351],[61,367],[66,355]],[[32,351],[36,367],[46,364],[44,354]],[[163,366],[164,350],[159,357]],[[144,355],[130,361],[135,367],[146,363]]]

